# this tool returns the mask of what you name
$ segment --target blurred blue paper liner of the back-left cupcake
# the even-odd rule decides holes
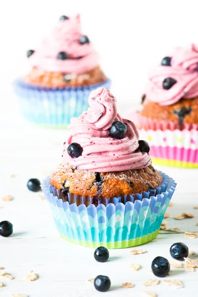
[[[78,117],[88,108],[88,95],[98,87],[110,88],[110,80],[79,88],[47,89],[14,82],[24,117],[40,126],[67,127],[72,117]]]

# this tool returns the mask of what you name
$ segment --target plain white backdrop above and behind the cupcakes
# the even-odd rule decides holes
[[[37,48],[62,14],[76,12],[125,108],[139,102],[151,65],[174,46],[198,44],[197,0],[1,0],[0,88],[6,93],[0,101],[8,101],[9,113],[15,101],[10,104],[7,88],[28,71],[26,51]]]

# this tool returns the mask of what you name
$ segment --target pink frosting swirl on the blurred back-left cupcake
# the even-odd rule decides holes
[[[91,43],[79,43],[80,36],[79,14],[61,20],[42,41],[40,48],[29,57],[31,65],[44,71],[63,73],[84,73],[94,69],[98,65],[99,56]],[[57,59],[58,53],[62,51],[68,54],[68,59]]]

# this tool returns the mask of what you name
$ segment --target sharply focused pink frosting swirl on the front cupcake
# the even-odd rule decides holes
[[[149,166],[150,155],[137,151],[139,134],[134,123],[119,116],[116,98],[110,91],[98,88],[90,93],[88,101],[88,110],[78,118],[71,119],[71,136],[64,144],[64,161],[77,169],[93,172],[141,169]],[[127,132],[123,139],[109,136],[109,128],[114,121],[126,123]],[[78,143],[83,149],[78,158],[71,158],[67,152],[71,143]]]

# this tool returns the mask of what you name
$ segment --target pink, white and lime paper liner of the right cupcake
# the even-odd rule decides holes
[[[180,130],[173,122],[152,120],[137,110],[130,112],[129,119],[140,128],[140,139],[149,142],[154,164],[198,168],[198,125],[185,124]]]

